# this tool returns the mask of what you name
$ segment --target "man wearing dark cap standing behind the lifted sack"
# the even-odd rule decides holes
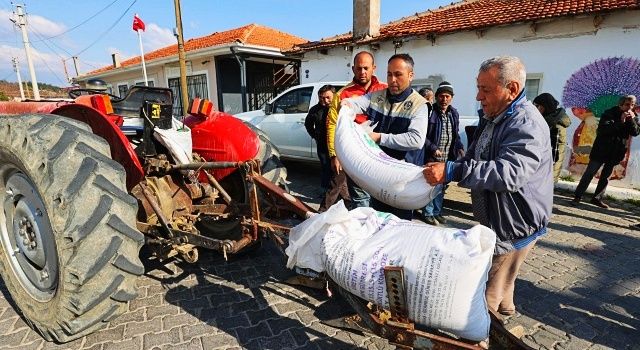
[[[464,147],[460,141],[458,128],[460,115],[451,106],[453,86],[443,81],[436,90],[436,103],[429,116],[427,140],[424,143],[424,163],[453,161],[464,156]],[[422,209],[422,220],[430,225],[444,224],[442,216],[444,190]]]

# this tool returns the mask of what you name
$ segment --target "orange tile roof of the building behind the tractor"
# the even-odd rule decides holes
[[[184,43],[185,52],[214,47],[233,42],[241,42],[243,44],[267,46],[280,49],[282,51],[291,49],[294,45],[307,42],[307,40],[291,35],[279,30],[265,27],[259,24],[249,24],[244,27],[227,30],[224,32],[216,32],[207,36],[189,39]],[[144,55],[145,63],[150,61],[178,55],[178,44],[163,47],[161,49],[146,53]],[[142,59],[136,56],[121,62],[122,67],[140,64]],[[115,70],[113,66],[106,66],[91,71],[85,75],[93,75],[110,70]]]

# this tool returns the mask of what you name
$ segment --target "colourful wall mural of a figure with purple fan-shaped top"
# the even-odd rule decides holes
[[[589,163],[589,153],[596,138],[600,115],[617,106],[624,95],[640,97],[640,60],[636,58],[610,57],[592,62],[573,73],[567,80],[562,102],[581,120],[573,134],[569,172],[581,176]],[[638,112],[638,109],[636,109]],[[627,149],[633,138],[629,138]],[[625,177],[629,151],[613,170],[612,179]]]

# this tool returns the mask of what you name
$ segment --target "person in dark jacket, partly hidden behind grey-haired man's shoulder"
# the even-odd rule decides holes
[[[571,125],[571,118],[569,118],[564,108],[558,108],[558,101],[549,93],[545,92],[538,95],[533,99],[533,105],[538,108],[547,125],[549,125],[551,152],[553,154],[553,182],[558,182],[562,164],[564,163],[567,128]]]

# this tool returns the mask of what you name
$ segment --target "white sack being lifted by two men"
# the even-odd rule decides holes
[[[336,127],[336,155],[349,177],[371,196],[400,209],[423,208],[441,190],[430,186],[422,167],[388,156],[342,106]]]

